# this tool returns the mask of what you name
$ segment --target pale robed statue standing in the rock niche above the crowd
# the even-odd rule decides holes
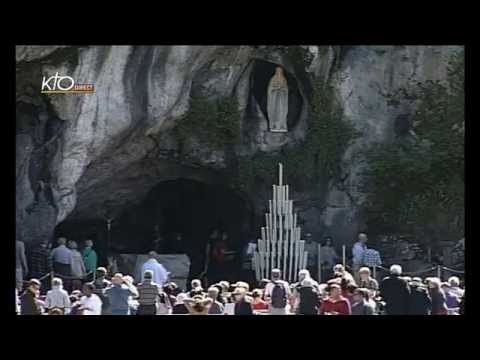
[[[277,67],[268,84],[267,113],[272,132],[287,132],[288,85],[283,69]]]

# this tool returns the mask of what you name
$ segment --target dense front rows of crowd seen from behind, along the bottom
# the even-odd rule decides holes
[[[307,269],[299,281],[288,284],[279,269],[258,288],[246,282],[220,281],[204,289],[199,279],[191,289],[174,282],[154,281],[155,271],[145,270],[142,281],[99,267],[93,282],[68,293],[61,278],[54,277],[51,290],[40,295],[41,283],[31,279],[21,296],[17,312],[22,315],[454,315],[463,314],[465,291],[457,277],[447,282],[438,278],[402,277],[401,267],[392,265],[390,275],[380,284],[370,269],[358,271],[355,281],[343,265],[337,264],[334,277],[318,284]]]

